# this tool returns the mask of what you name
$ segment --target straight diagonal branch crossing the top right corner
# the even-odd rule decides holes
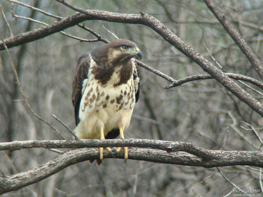
[[[260,79],[263,80],[263,66],[260,60],[257,58],[256,54],[250,48],[250,46],[245,42],[241,35],[237,32],[235,27],[229,22],[226,15],[217,7],[211,0],[203,0],[210,11],[215,15],[215,17],[222,24],[227,33],[235,41],[240,50],[246,55],[247,59],[250,61],[254,69],[257,71]]]

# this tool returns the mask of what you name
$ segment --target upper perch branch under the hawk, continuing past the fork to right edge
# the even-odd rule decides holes
[[[252,165],[263,167],[263,153],[259,151],[214,151],[203,149],[188,142],[171,142],[150,139],[83,139],[83,140],[29,140],[0,143],[1,150],[19,150],[24,148],[94,148],[94,147],[150,147],[163,153],[187,152],[201,159],[201,166]],[[148,149],[151,152],[151,149]],[[169,154],[168,154],[169,155]],[[96,154],[96,157],[98,155]],[[161,156],[160,156],[161,157]],[[172,161],[170,161],[173,163]],[[208,163],[206,163],[208,162]],[[163,162],[161,162],[163,163]],[[166,163],[166,162],[165,162]],[[200,164],[200,163],[199,163]]]

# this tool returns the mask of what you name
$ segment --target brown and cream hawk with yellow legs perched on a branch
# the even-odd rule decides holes
[[[124,139],[123,132],[139,99],[136,56],[141,58],[137,45],[124,39],[80,56],[72,91],[77,126],[74,132],[80,139],[113,139],[119,135]],[[106,149],[112,153],[109,147]],[[118,147],[115,155],[120,150]],[[98,165],[103,159],[103,148],[99,148],[99,155]],[[128,158],[128,147],[124,147],[124,158]]]

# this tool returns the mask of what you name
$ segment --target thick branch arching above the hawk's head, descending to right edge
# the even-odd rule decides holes
[[[257,100],[255,100],[231,79],[229,79],[229,77],[227,77],[221,70],[210,63],[197,51],[174,35],[163,23],[154,17],[143,12],[141,12],[141,14],[120,14],[97,10],[82,10],[79,8],[78,10],[81,10],[85,14],[76,13],[68,18],[65,18],[47,27],[43,27],[39,30],[33,30],[32,32],[8,38],[5,40],[7,47],[13,47],[27,42],[32,42],[33,40],[59,32],[84,20],[105,20],[118,23],[143,24],[160,34],[167,42],[172,44],[191,60],[195,61],[195,63],[197,63],[205,72],[215,78],[222,86],[232,92],[232,94],[234,94],[237,98],[263,116],[263,107]],[[3,43],[0,42],[0,50],[2,50],[2,48]]]

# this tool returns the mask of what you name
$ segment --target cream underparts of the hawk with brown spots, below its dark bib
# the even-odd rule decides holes
[[[83,81],[82,100],[80,102],[80,124],[76,133],[80,138],[99,138],[99,128],[104,128],[104,134],[122,126],[128,128],[135,105],[135,87],[133,75],[127,83],[118,86],[118,70],[111,79],[102,84],[89,72],[88,79]]]

